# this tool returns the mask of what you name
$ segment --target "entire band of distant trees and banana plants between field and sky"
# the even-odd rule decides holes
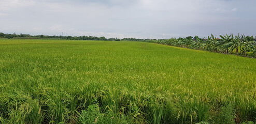
[[[256,39],[253,36],[245,35],[220,35],[220,38],[212,35],[208,36],[208,39],[194,38],[189,36],[186,38],[170,38],[170,39],[136,39],[136,38],[105,38],[105,37],[93,37],[93,36],[45,36],[45,35],[25,35],[20,34],[4,34],[0,33],[0,38],[16,38],[16,39],[67,39],[67,40],[104,40],[104,41],[144,41],[154,42],[165,45],[179,46],[183,48],[190,48],[196,50],[205,50],[211,52],[225,53],[225,54],[236,54],[245,57],[256,57]]]

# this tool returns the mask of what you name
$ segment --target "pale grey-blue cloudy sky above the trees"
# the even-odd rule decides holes
[[[0,0],[0,32],[142,39],[255,36],[255,5],[255,0]]]

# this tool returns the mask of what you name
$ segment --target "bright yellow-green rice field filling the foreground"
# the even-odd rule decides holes
[[[0,123],[256,122],[256,59],[147,42],[0,39]]]

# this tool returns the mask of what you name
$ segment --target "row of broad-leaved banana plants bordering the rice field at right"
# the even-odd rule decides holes
[[[205,50],[211,52],[236,54],[239,56],[256,57],[256,40],[253,36],[245,35],[220,35],[220,38],[212,35],[208,38],[170,38],[159,40],[147,40],[147,42],[160,43],[165,45],[179,46],[182,48]]]

